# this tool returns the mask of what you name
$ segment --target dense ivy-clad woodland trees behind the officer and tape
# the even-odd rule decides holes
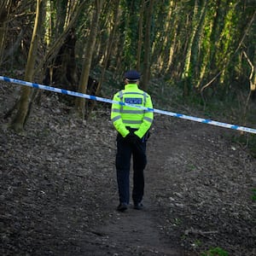
[[[0,71],[111,97],[134,68],[155,108],[192,104],[255,125],[255,16],[254,0],[3,0]],[[15,131],[41,93],[20,88],[6,114]],[[96,108],[81,98],[67,104],[83,119]]]

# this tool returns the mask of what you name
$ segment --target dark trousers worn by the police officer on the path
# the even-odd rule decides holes
[[[118,135],[116,154],[116,173],[119,188],[119,201],[129,204],[130,201],[130,167],[131,155],[133,159],[133,189],[132,200],[137,203],[143,200],[144,169],[147,165],[146,142],[136,144],[125,142]]]

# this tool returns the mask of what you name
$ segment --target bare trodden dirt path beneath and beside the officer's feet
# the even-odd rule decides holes
[[[158,132],[154,131],[154,133]],[[130,205],[127,211],[117,212],[115,208],[118,195],[116,193],[106,195],[108,202],[105,211],[108,212],[108,218],[103,225],[97,226],[92,231],[96,235],[96,240],[89,242],[90,246],[89,244],[85,246],[86,255],[184,255],[183,248],[178,245],[178,239],[171,241],[166,237],[160,226],[162,209],[154,201],[155,191],[162,189],[157,184],[162,179],[162,173],[159,171],[162,166],[165,166],[167,160],[166,154],[162,152],[163,148],[158,148],[162,143],[165,143],[164,137],[159,137],[159,143],[148,143],[149,163],[145,171],[146,189],[143,210],[135,210]],[[164,148],[166,150],[168,147]],[[113,175],[115,177],[114,172]]]

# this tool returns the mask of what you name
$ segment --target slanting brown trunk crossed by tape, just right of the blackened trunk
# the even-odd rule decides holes
[[[98,31],[98,23],[101,15],[102,4],[104,0],[95,0],[95,9],[92,14],[91,24],[90,24],[90,34],[88,37],[87,44],[84,48],[84,58],[83,69],[79,81],[79,92],[86,93],[87,83],[90,74],[91,60],[94,53],[94,48],[96,44],[96,35]],[[76,112],[79,117],[84,119],[85,116],[85,99],[77,98],[76,99]]]

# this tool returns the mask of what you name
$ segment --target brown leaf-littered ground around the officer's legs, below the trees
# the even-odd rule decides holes
[[[108,106],[81,122],[43,96],[21,136],[5,128],[3,88],[1,255],[256,255],[256,160],[236,131],[156,115],[145,209],[122,213]]]

